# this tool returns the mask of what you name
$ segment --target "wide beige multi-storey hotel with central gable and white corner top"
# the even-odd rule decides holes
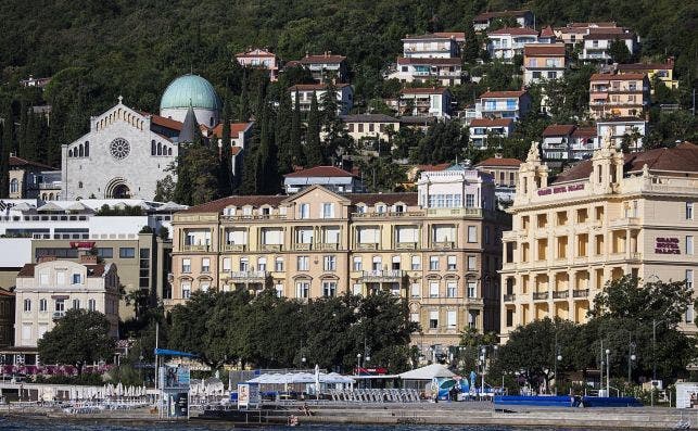
[[[206,289],[276,289],[307,301],[390,290],[421,324],[413,342],[445,353],[467,326],[498,331],[500,233],[488,174],[422,173],[417,193],[231,197],[174,217],[165,305]],[[426,352],[424,352],[426,353]]]

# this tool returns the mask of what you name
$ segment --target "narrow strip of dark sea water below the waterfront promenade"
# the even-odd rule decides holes
[[[110,424],[107,422],[79,422],[79,423],[55,423],[50,420],[28,420],[17,418],[1,418],[0,430],[2,431],[141,431],[141,430],[156,430],[156,431],[208,431],[208,430],[230,430],[230,423],[142,423],[142,424]],[[285,430],[289,427],[254,427],[254,428],[234,428],[236,430]],[[361,429],[366,431],[571,431],[563,428],[515,428],[515,427],[459,427],[459,426],[344,426],[344,424],[317,424],[317,426],[299,426],[294,430],[306,431],[350,431],[354,429]],[[576,428],[574,431],[584,431]],[[595,429],[594,431],[599,431]]]

